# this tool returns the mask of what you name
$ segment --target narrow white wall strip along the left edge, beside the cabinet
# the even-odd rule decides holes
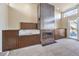
[[[2,30],[7,29],[8,20],[7,4],[0,3],[0,52],[2,51]]]

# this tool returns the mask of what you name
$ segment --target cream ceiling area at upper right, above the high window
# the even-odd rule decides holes
[[[60,12],[64,12],[70,8],[77,6],[78,3],[51,3],[51,5],[54,5],[56,10],[59,10]]]

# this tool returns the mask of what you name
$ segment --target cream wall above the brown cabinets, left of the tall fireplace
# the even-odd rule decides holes
[[[20,22],[37,23],[37,4],[10,3],[8,29],[20,29]]]

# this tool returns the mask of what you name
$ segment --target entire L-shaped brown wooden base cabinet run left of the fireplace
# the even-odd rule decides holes
[[[40,44],[40,35],[19,36],[18,30],[3,30],[3,51],[13,50],[35,44]]]

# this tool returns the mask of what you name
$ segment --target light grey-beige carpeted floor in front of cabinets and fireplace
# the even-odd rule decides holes
[[[79,56],[79,41],[60,39],[57,43],[41,46],[35,45],[12,50],[9,56]]]

